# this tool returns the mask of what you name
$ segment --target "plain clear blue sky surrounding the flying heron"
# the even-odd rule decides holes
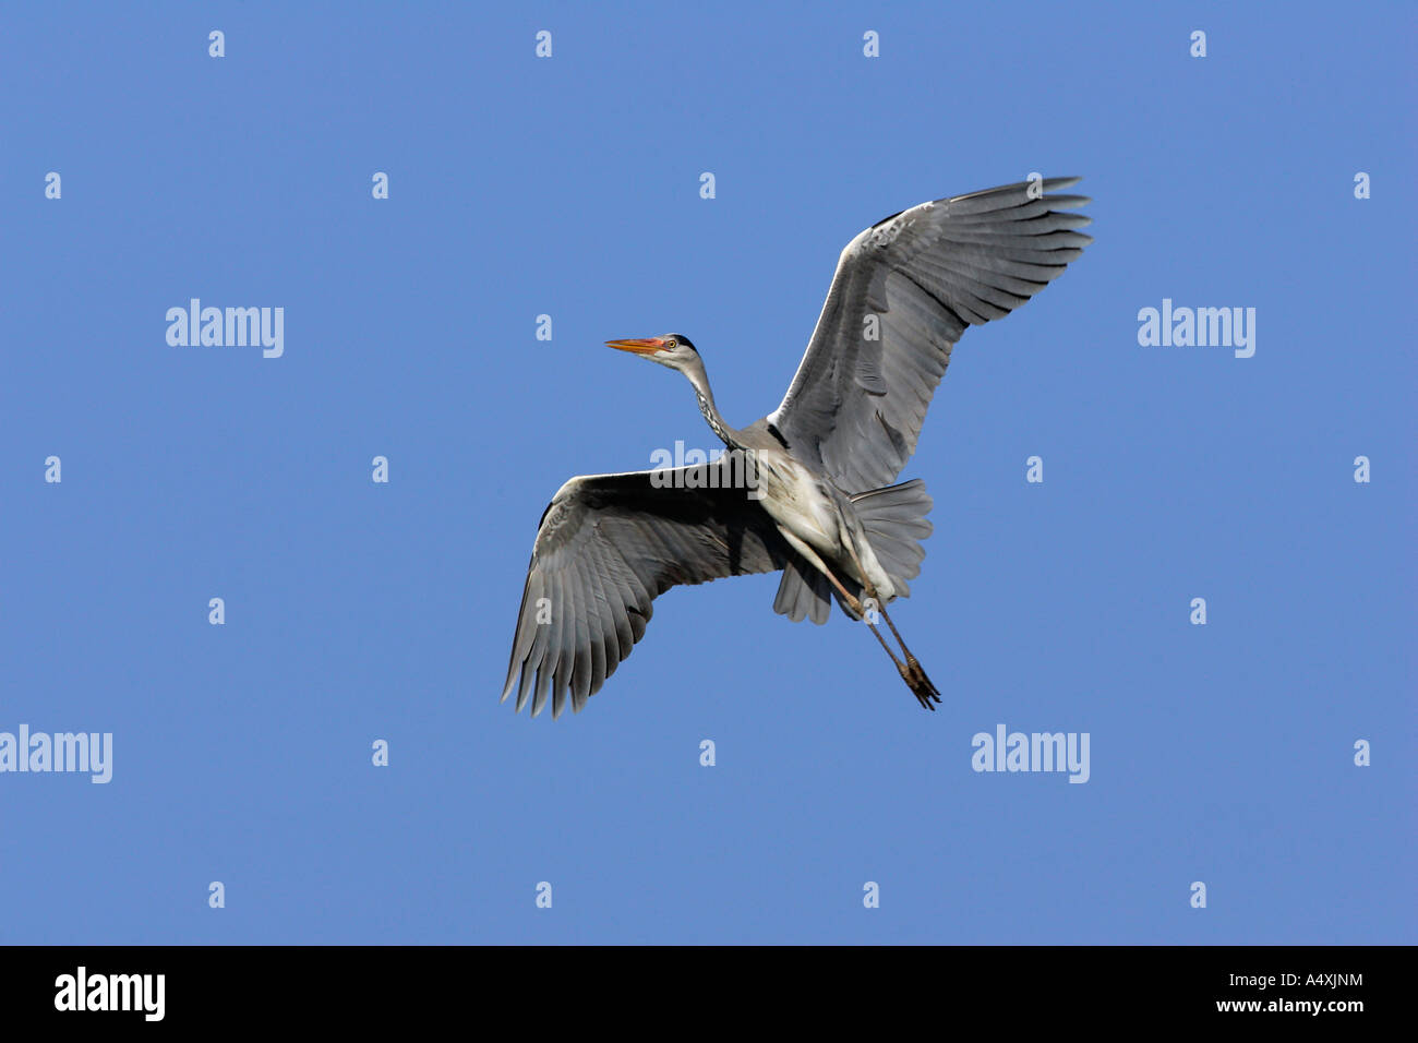
[[[0,731],[113,778],[0,773],[0,941],[1414,942],[1414,17],[9,9]],[[496,702],[557,487],[716,444],[603,341],[688,333],[746,424],[852,236],[1035,170],[1096,243],[903,474],[940,712],[773,576],[662,597],[577,717]],[[284,355],[170,346],[193,297]],[[1164,298],[1254,358],[1140,346]],[[998,724],[1089,780],[971,771]]]

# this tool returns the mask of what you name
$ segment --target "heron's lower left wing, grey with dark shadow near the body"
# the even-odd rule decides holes
[[[520,711],[530,694],[536,717],[550,691],[556,718],[570,694],[580,712],[665,590],[781,569],[787,543],[735,477],[716,461],[566,482],[537,528],[502,698],[516,687]]]

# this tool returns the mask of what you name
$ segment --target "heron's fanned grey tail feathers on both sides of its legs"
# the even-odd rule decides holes
[[[851,500],[876,561],[891,576],[896,593],[908,596],[910,587],[906,586],[906,580],[920,575],[920,561],[926,556],[926,548],[920,541],[932,532],[926,515],[930,514],[933,502],[926,494],[926,482],[913,478],[900,485],[858,492]],[[854,596],[861,597],[861,589],[855,583],[845,578],[844,582]],[[773,610],[794,623],[804,617],[814,623],[827,623],[832,614],[832,596],[827,576],[798,555],[793,555],[783,568],[783,580],[778,583],[777,597],[773,599]],[[852,619],[856,617],[841,599],[838,603],[842,605],[842,612]]]

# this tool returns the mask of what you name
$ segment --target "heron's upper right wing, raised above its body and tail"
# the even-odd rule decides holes
[[[1008,315],[1093,241],[1076,231],[1089,217],[1059,213],[1090,200],[1051,194],[1079,180],[922,203],[848,243],[793,385],[767,417],[793,453],[847,492],[893,482],[966,326]]]

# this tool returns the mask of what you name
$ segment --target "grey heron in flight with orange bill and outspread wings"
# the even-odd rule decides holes
[[[681,333],[607,341],[685,375],[727,453],[708,464],[580,475],[542,515],[502,690],[586,705],[645,634],[651,602],[681,583],[783,572],[774,612],[825,623],[832,599],[868,624],[934,710],[940,692],[886,605],[909,593],[930,535],[925,484],[892,484],[966,326],[998,319],[1058,278],[1092,237],[1065,213],[1078,177],[922,203],[861,233],[837,263],[817,329],[781,404],[747,427],[719,413]],[[744,465],[747,463],[747,465]],[[900,656],[878,629],[885,620]]]

